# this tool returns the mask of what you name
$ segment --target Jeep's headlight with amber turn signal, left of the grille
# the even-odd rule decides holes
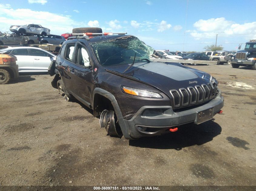
[[[162,98],[162,96],[156,92],[152,92],[152,91],[146,91],[146,90],[140,90],[140,89],[136,89],[136,88],[129,88],[126,86],[121,87],[123,89],[123,91],[126,94],[130,94],[130,95],[135,95],[135,96],[140,96],[140,97],[148,97],[148,98]]]

